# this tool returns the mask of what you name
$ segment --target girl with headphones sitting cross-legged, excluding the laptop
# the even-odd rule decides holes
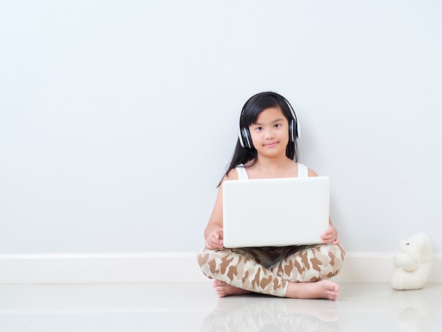
[[[328,230],[321,235],[323,244],[223,247],[223,182],[317,176],[297,162],[297,118],[282,95],[273,92],[253,95],[242,109],[239,128],[232,161],[218,185],[215,207],[205,228],[205,246],[198,251],[203,273],[215,279],[213,287],[219,297],[260,292],[278,297],[336,300],[339,286],[328,278],[339,273],[345,251],[330,219]]]

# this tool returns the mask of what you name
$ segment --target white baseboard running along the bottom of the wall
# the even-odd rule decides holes
[[[394,254],[347,253],[336,283],[389,283]],[[208,282],[196,253],[3,254],[0,284]],[[434,254],[428,283],[442,283],[442,254]]]

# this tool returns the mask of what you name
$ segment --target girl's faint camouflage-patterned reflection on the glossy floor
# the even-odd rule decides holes
[[[249,295],[218,300],[201,331],[341,331],[338,319],[334,301]]]

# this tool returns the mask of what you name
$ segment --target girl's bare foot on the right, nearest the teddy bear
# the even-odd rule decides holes
[[[289,283],[285,297],[293,299],[327,299],[336,300],[339,285],[330,280],[320,280],[314,283]]]

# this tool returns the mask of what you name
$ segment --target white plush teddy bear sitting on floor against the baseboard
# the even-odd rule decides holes
[[[393,257],[390,284],[395,290],[418,290],[429,277],[433,259],[431,241],[423,232],[400,240],[400,253]]]

